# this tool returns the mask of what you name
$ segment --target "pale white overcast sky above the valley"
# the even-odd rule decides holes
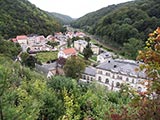
[[[42,10],[79,18],[102,7],[131,0],[29,0]]]

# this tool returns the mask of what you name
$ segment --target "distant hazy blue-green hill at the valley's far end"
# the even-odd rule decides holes
[[[55,17],[62,24],[69,24],[74,20],[70,16],[59,14],[59,13],[55,13],[55,12],[51,12],[51,13],[48,12],[48,14],[50,14],[53,17]]]

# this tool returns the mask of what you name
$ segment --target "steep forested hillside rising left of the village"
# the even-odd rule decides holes
[[[53,34],[61,24],[28,0],[0,0],[0,34],[4,38],[20,34]]]

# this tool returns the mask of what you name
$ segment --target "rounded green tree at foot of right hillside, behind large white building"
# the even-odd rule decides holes
[[[136,38],[128,39],[127,43],[123,44],[122,51],[124,56],[129,59],[136,59],[138,55],[138,50],[143,48],[143,42]]]

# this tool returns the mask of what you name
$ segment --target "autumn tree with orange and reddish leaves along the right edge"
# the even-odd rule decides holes
[[[147,92],[136,104],[139,106],[137,118],[158,120],[160,118],[160,27],[149,34],[146,47],[139,51],[137,59],[145,63],[140,68],[146,71],[148,78]]]

